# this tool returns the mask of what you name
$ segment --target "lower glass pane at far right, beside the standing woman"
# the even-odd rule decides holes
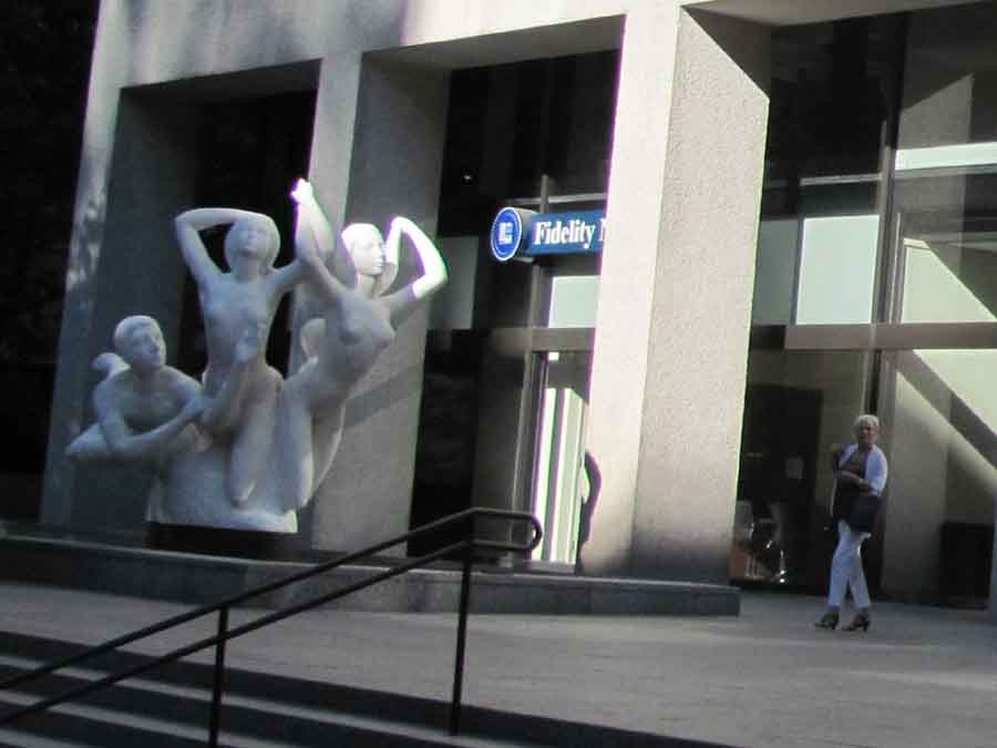
[[[884,359],[892,422],[884,578],[915,597],[986,597],[991,541],[979,539],[993,536],[997,495],[997,351]],[[966,547],[973,543],[980,546]]]

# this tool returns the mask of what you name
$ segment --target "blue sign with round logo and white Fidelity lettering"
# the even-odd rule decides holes
[[[605,211],[534,213],[504,207],[492,222],[492,254],[503,263],[515,255],[597,253],[605,239]]]

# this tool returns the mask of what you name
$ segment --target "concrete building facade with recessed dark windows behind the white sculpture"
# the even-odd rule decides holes
[[[586,572],[820,584],[823,455],[872,410],[893,468],[873,576],[939,594],[943,541],[994,522],[995,19],[945,0],[103,0],[41,522],[141,532],[141,474],[63,457],[92,419],[90,361],[138,312],[196,361],[172,217],[249,182],[237,207],[289,211],[304,168],[337,225],[436,234],[451,284],[354,399],[302,546],[403,532],[446,489],[536,511],[538,561],[567,566],[588,451]],[[534,151],[531,129],[549,133]],[[451,177],[491,203],[462,214]],[[503,205],[605,211],[600,256],[498,267],[469,216]],[[446,452],[461,413],[473,444]]]

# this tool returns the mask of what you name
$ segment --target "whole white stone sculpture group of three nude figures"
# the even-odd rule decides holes
[[[178,236],[182,244],[186,243],[188,265],[192,270],[196,266],[195,277],[199,274],[202,278],[198,287],[209,336],[203,390],[189,377],[165,367],[162,335],[147,317],[129,318],[119,326],[125,330],[120,336],[115,334],[123,361],[106,358],[113,356],[110,353],[99,359],[105,369],[114,371],[97,387],[95,402],[100,392],[106,413],[137,412],[138,416],[130,416],[136,421],[132,430],[141,431],[140,436],[156,444],[156,449],[147,447],[148,455],[162,455],[157,462],[162,482],[150,498],[151,521],[296,532],[297,511],[308,503],[331,467],[342,434],[347,400],[394,339],[398,325],[446,280],[439,252],[411,221],[394,218],[387,242],[374,226],[348,226],[342,232],[343,246],[337,247],[311,185],[300,180],[292,197],[298,204],[297,259],[270,273],[267,268],[276,256],[274,240],[236,234],[232,243],[226,240],[233,273],[224,274],[206,259],[197,237],[197,230],[207,225],[238,222],[246,216],[257,222],[258,214],[207,208],[191,211],[176,219]],[[401,289],[386,294],[398,270],[403,236],[411,240],[422,274]],[[270,275],[281,270],[287,273],[268,283]],[[299,279],[308,286],[317,316],[299,331],[305,361],[285,381],[264,361],[266,331],[279,296]],[[214,321],[208,321],[209,315]],[[143,327],[129,321],[133,319],[147,322]],[[154,335],[140,335],[152,328]],[[145,410],[136,410],[132,390],[110,386],[119,378],[131,382],[148,376],[147,370],[153,367],[138,350],[138,341],[145,337],[157,341],[158,348],[154,351],[151,346],[148,352],[158,367],[156,371],[174,372],[175,381],[182,383],[176,388],[184,396],[172,396],[172,408],[152,407],[152,400],[158,402],[157,398],[173,392],[167,387],[173,380],[162,372],[161,383],[138,388],[151,399]],[[220,352],[212,358],[213,350]],[[216,361],[220,363],[216,366]],[[254,411],[249,417],[247,408]],[[114,423],[111,416],[101,417],[73,443],[70,453],[79,459],[145,457],[137,447],[120,445],[124,442]],[[245,436],[246,429],[256,432]],[[248,480],[235,480],[232,475],[240,464],[237,450],[239,454],[255,450],[251,454],[256,462]],[[232,500],[234,485],[240,489],[235,496],[238,501]]]

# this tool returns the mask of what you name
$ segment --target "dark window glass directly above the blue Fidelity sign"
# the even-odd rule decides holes
[[[606,191],[619,55],[596,52],[452,74],[440,234],[477,235],[498,206]]]

